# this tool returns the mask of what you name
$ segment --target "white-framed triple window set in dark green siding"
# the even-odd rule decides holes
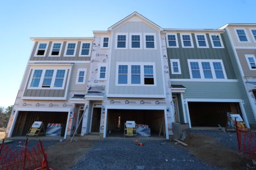
[[[192,79],[226,79],[221,59],[188,59]]]

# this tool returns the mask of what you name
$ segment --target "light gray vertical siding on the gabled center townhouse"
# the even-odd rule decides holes
[[[115,33],[155,33],[156,50],[153,49],[115,49]],[[128,36],[129,37],[129,36]],[[143,39],[142,39],[143,41]],[[109,94],[127,95],[164,95],[162,62],[159,46],[159,32],[143,22],[127,22],[114,29],[112,39],[112,53],[110,64]],[[128,43],[129,44],[129,43]],[[142,43],[143,44],[143,43]],[[156,72],[156,86],[115,86],[117,62],[154,62]],[[143,75],[142,75],[143,76]]]

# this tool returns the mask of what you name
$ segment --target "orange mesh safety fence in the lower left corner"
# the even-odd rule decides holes
[[[0,147],[1,169],[51,169],[48,168],[47,155],[44,153],[42,141],[36,146],[28,147],[28,138],[24,146],[14,150],[2,142]]]

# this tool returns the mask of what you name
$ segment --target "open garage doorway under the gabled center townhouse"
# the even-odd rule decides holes
[[[108,109],[107,135],[124,137],[126,121],[135,121],[137,125],[148,125],[151,137],[158,137],[160,129],[160,135],[164,135],[164,111],[132,109]]]

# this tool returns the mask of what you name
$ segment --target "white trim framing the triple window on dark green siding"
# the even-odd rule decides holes
[[[198,62],[199,63],[199,71],[200,71],[201,78],[193,78],[190,62]],[[209,62],[210,63],[210,70],[212,71],[212,77],[213,77],[212,79],[204,78],[204,71],[203,71],[203,66],[202,66],[201,62]],[[222,71],[224,74],[224,79],[216,78],[215,70],[213,67],[213,62],[221,63]],[[223,65],[222,59],[188,59],[188,68],[189,68],[190,79],[196,79],[196,80],[226,80],[226,79],[228,79],[226,76],[226,71],[225,71],[225,67]]]

